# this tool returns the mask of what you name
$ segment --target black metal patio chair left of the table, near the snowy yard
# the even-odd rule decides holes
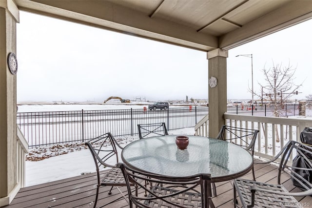
[[[99,187],[101,186],[111,186],[111,189],[108,192],[108,194],[112,194],[113,187],[117,187],[122,197],[126,199],[126,197],[123,195],[122,191],[120,191],[118,187],[125,187],[127,186],[127,184],[126,184],[126,181],[123,177],[123,174],[120,168],[117,168],[116,166],[116,164],[118,163],[117,147],[120,149],[123,149],[123,148],[120,145],[118,145],[118,143],[116,142],[115,138],[113,137],[111,133],[106,133],[97,138],[94,138],[90,140],[89,142],[86,142],[85,145],[88,146],[91,151],[91,154],[93,156],[93,159],[96,165],[97,175],[98,175],[97,195],[96,195],[96,200],[94,203],[94,208],[96,208],[97,206]],[[108,162],[112,160],[114,160],[114,162]],[[105,173],[105,175],[102,178],[100,176],[101,166],[111,167],[111,169],[107,173]],[[134,186],[134,184],[130,184],[130,185]],[[136,189],[136,193],[137,193],[137,189]],[[113,203],[122,197],[119,197],[101,207],[104,207],[110,203]]]

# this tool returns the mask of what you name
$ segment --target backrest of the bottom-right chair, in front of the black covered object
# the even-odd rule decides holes
[[[291,155],[295,156],[292,161],[290,161]],[[289,141],[272,161],[277,158],[281,160],[278,184],[280,184],[280,175],[283,171],[291,177],[294,186],[303,190],[312,188],[312,146]]]

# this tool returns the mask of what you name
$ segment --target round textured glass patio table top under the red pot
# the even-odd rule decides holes
[[[252,155],[240,146],[207,137],[189,137],[189,146],[181,150],[176,136],[140,139],[125,146],[122,161],[132,168],[166,176],[191,176],[210,173],[212,182],[238,178],[253,167]]]

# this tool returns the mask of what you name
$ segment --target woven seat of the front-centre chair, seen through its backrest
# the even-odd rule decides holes
[[[168,194],[172,194],[177,192],[177,189],[168,188],[168,187],[161,187],[161,186],[154,186],[152,187],[152,192],[155,193],[156,196],[162,197]],[[153,197],[149,194],[148,197]],[[188,208],[201,208],[201,193],[197,192],[182,192],[180,194],[174,195],[172,197],[168,196],[164,198],[165,200],[172,202],[176,205],[171,205],[169,203],[164,202],[164,200],[160,199],[153,199],[153,200],[146,200],[144,205],[148,206],[149,208],[178,208],[176,207],[188,207]]]

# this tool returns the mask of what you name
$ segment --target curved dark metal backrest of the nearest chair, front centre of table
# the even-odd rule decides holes
[[[153,207],[153,204],[169,204],[170,206],[168,207],[186,208],[188,207],[186,200],[189,200],[188,203],[195,203],[201,208],[209,207],[208,200],[211,200],[210,174],[198,174],[188,177],[168,177],[141,172],[123,163],[118,163],[117,167],[121,168],[126,180],[130,208],[132,208],[132,203],[140,208],[150,208]],[[138,188],[142,188],[147,194],[136,196],[129,186],[130,183],[135,184]],[[146,184],[151,184],[153,187],[147,187],[145,186]],[[185,195],[192,197],[186,197]],[[172,198],[175,198],[175,200],[171,200]],[[184,206],[183,202],[181,203],[183,200],[185,200]]]

